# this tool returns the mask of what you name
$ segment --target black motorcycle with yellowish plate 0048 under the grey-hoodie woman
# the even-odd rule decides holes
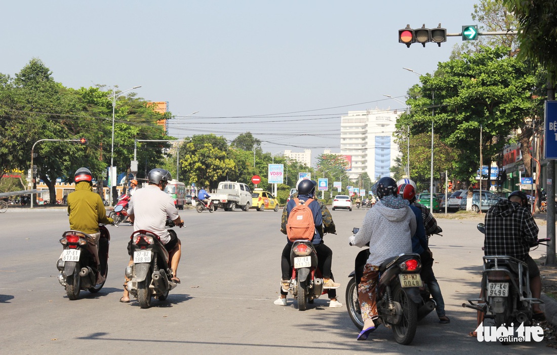
[[[354,228],[353,234],[358,230],[359,228]],[[346,308],[359,330],[363,329],[364,321],[358,301],[358,285],[368,257],[369,248],[358,253],[355,270],[350,273],[351,279],[346,285]],[[399,344],[410,344],[416,335],[418,320],[435,309],[434,301],[429,298],[429,292],[423,286],[419,274],[421,269],[421,259],[414,253],[390,257],[379,266],[381,276],[375,290],[379,322],[393,329],[394,339]]]

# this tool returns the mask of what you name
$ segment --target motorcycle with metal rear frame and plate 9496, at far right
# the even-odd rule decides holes
[[[477,228],[485,234],[485,225]],[[549,238],[538,239],[538,245]],[[482,247],[483,249],[483,247]],[[532,298],[530,275],[524,261],[506,255],[486,255],[483,257],[482,292],[480,298],[469,299],[462,307],[472,308],[485,314],[484,318],[495,320],[496,327],[506,324],[532,324],[532,304],[543,303]]]

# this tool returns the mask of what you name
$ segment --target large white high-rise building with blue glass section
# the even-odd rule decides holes
[[[348,111],[340,124],[340,153],[349,155],[350,179],[367,172],[372,180],[392,176],[390,167],[400,157],[394,143],[395,123],[402,110]]]

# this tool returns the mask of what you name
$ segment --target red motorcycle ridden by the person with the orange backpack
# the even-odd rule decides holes
[[[306,310],[308,303],[329,290],[323,289],[323,276],[317,268],[317,252],[309,240],[296,240],[290,250],[292,276],[289,291],[298,301],[298,310]]]

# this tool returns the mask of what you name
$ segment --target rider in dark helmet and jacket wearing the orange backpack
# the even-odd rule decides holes
[[[281,221],[281,232],[286,234],[286,223],[288,220],[288,216],[290,215],[290,211],[292,208],[296,206],[296,202],[294,198],[298,198],[300,201],[306,201],[308,198],[314,198],[315,195],[315,187],[317,186],[317,182],[314,180],[309,179],[300,179],[297,183],[297,196],[292,194],[289,203],[285,206],[284,210],[282,211],[282,221]],[[314,216],[315,222],[315,236],[312,240],[314,244],[315,251],[317,252],[317,260],[318,265],[317,267],[321,270],[323,274],[323,288],[329,289],[329,307],[331,308],[338,308],[342,307],[343,305],[338,301],[336,298],[336,290],[339,288],[340,284],[334,282],[334,276],[331,272],[331,262],[333,260],[333,251],[325,245],[323,242],[323,235],[324,232],[334,233],[336,232],[336,227],[333,222],[333,217],[331,217],[329,210],[325,207],[324,203],[311,203],[308,207],[311,208],[311,211]],[[325,216],[325,218],[324,218]],[[288,294],[288,289],[290,287],[290,278],[292,272],[292,265],[290,264],[290,252],[292,249],[292,242],[288,241],[284,249],[282,250],[281,256],[281,271],[282,271],[282,279],[281,279],[281,288],[280,288],[280,297],[275,300],[275,304],[277,305],[286,305],[286,295]]]

